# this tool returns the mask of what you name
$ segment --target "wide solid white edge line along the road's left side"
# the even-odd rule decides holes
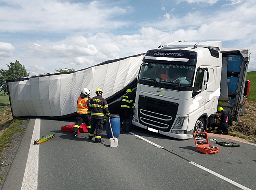
[[[38,160],[39,160],[39,145],[34,145],[34,140],[40,138],[40,122],[41,120],[36,118],[35,126],[31,138],[30,148],[28,152],[28,159],[26,169],[22,181],[21,190],[36,190],[38,179]]]

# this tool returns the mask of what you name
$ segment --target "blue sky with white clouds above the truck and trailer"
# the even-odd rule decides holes
[[[0,68],[80,70],[181,40],[250,49],[254,71],[255,10],[255,0],[0,0]]]

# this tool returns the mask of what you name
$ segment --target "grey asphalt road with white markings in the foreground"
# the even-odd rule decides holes
[[[89,141],[87,132],[73,137],[61,131],[74,122],[30,119],[2,190],[256,189],[253,143],[209,134],[208,139],[240,147],[220,146],[216,154],[203,154],[194,139],[134,128],[120,134],[119,147],[111,148],[105,128],[103,143]],[[52,133],[54,138],[33,145],[36,137]]]

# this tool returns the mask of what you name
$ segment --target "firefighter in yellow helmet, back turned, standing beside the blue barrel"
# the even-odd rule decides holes
[[[103,129],[103,119],[104,115],[109,117],[110,113],[108,111],[108,103],[102,97],[103,91],[98,88],[95,92],[97,96],[91,98],[88,107],[88,113],[91,117],[91,128],[89,130],[89,140],[93,138],[95,132],[95,143],[102,143],[103,139],[101,139],[101,132]]]

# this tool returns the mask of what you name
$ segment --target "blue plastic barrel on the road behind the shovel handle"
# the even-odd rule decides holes
[[[119,137],[120,134],[120,117],[118,114],[110,114],[110,122],[111,122],[111,128],[113,131],[113,135],[115,138]],[[110,129],[110,125],[109,125],[109,120],[107,118],[107,122],[106,122],[106,133],[108,138],[112,138],[112,133],[111,133],[111,129]]]

